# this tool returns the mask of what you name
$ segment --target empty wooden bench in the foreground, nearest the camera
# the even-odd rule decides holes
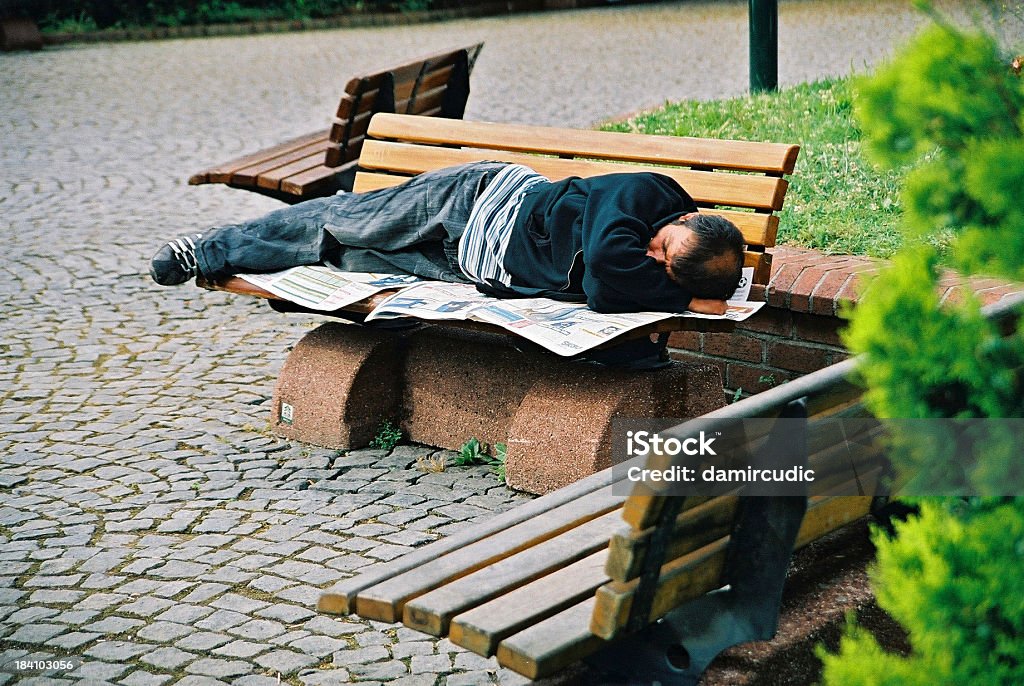
[[[821,370],[663,434],[808,417],[809,465],[825,475],[809,498],[732,490],[684,499],[639,485],[627,497],[624,468],[608,469],[345,580],[321,597],[319,609],[447,636],[530,679],[588,657],[608,683],[696,683],[724,648],[774,634],[795,548],[871,509],[879,454],[828,423],[863,417],[862,430],[877,427],[846,380],[853,366]],[[792,464],[798,434],[787,424],[767,440],[763,432],[748,440],[762,454],[781,448],[779,461]],[[858,468],[852,479],[851,465]],[[627,674],[615,675],[616,664]]]

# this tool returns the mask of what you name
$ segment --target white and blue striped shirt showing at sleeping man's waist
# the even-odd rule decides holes
[[[470,280],[479,284],[495,280],[505,286],[512,283],[503,264],[512,226],[526,191],[547,180],[528,167],[509,165],[476,199],[459,242],[459,267]]]

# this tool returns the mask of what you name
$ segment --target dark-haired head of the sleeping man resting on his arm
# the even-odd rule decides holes
[[[693,212],[658,229],[647,254],[693,297],[725,300],[739,285],[743,237],[728,219]]]

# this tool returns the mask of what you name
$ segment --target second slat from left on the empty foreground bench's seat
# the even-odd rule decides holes
[[[572,529],[609,511],[622,507],[625,497],[612,494],[610,486],[570,501],[529,521],[515,524],[449,553],[415,569],[394,575],[359,592],[355,609],[359,616],[381,621],[396,621],[406,603],[449,582],[465,576]],[[349,603],[350,605],[350,603]]]

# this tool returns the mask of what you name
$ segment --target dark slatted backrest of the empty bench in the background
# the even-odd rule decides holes
[[[462,119],[469,76],[482,49],[477,43],[351,79],[331,126],[336,144],[327,151],[327,166],[359,157],[370,119],[379,112]]]

